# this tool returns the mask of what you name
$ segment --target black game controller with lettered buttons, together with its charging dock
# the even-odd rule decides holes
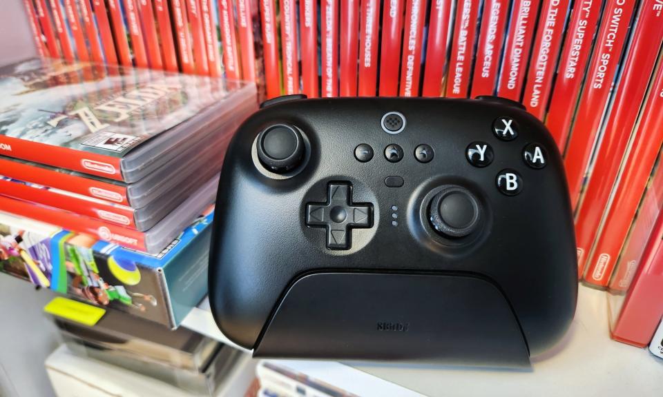
[[[529,365],[575,313],[561,156],[506,99],[268,101],[225,159],[209,288],[254,356]]]

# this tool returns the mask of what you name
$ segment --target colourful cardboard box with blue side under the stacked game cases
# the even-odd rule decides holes
[[[212,219],[149,255],[0,212],[0,272],[174,328],[207,292]]]

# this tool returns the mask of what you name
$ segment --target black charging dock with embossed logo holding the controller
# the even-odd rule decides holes
[[[508,301],[474,276],[323,273],[288,290],[256,357],[526,367]]]

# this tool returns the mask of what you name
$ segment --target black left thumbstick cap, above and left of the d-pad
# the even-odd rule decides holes
[[[302,134],[289,125],[273,125],[258,135],[258,159],[271,172],[287,172],[304,156]]]

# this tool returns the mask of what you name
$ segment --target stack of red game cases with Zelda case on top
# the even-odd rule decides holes
[[[257,108],[241,81],[48,59],[0,74],[0,211],[153,255],[209,212]]]

